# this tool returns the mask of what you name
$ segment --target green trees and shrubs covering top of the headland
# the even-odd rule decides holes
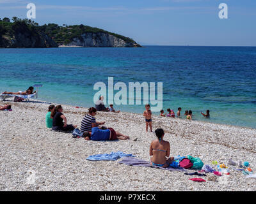
[[[6,39],[12,40],[18,33],[26,33],[27,36],[40,36],[42,34],[46,34],[58,45],[67,45],[74,38],[81,40],[81,35],[84,33],[107,33],[124,40],[125,43],[130,43],[132,45],[136,44],[136,42],[131,38],[83,24],[63,24],[62,26],[58,24],[38,25],[33,20],[28,20],[26,18],[20,19],[13,17],[12,20],[9,18],[3,18],[3,20],[1,20],[0,18],[0,47],[4,47],[3,45],[1,46],[1,40],[3,41],[1,38],[5,37]]]

